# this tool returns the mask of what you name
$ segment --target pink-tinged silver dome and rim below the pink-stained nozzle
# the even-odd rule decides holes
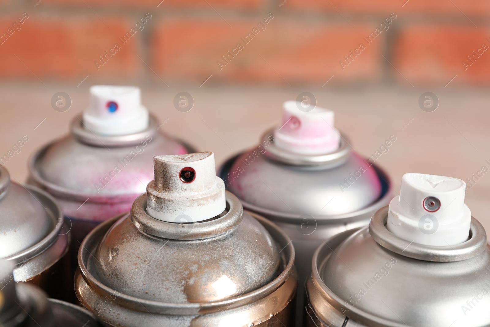
[[[278,220],[349,219],[391,199],[388,176],[351,151],[345,136],[334,152],[304,155],[278,148],[269,130],[258,147],[228,160],[220,176],[246,209]]]

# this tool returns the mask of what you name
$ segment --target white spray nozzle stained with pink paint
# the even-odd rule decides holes
[[[274,130],[275,144],[284,150],[319,155],[339,149],[340,134],[334,128],[334,112],[315,107],[302,111],[301,102],[284,102],[282,126]]]

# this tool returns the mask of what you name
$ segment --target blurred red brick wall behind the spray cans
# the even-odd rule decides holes
[[[488,0],[160,1],[0,0],[0,79],[490,82]]]

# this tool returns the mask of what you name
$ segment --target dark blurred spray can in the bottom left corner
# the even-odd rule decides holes
[[[14,282],[13,264],[0,260],[1,327],[103,327],[87,310],[54,299],[36,286]]]

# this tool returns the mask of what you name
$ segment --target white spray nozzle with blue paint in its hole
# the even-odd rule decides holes
[[[83,124],[90,131],[108,136],[127,135],[144,130],[148,122],[139,87],[90,87],[90,106],[83,112]]]

